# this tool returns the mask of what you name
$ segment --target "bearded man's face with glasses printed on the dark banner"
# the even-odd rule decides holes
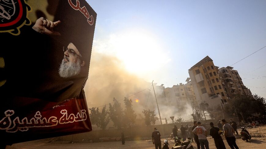
[[[76,76],[80,73],[81,68],[85,65],[82,55],[72,43],[69,43],[64,50],[64,59],[59,68],[59,75],[63,78]]]

